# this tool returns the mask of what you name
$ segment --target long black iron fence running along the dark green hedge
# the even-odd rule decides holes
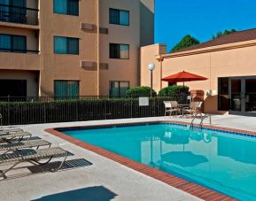
[[[112,120],[157,117],[165,114],[163,101],[172,97],[149,98],[140,106],[138,97],[1,97],[3,125],[37,124],[81,120]],[[187,96],[179,96],[187,104]]]

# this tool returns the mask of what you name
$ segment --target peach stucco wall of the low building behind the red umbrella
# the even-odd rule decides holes
[[[154,60],[155,49],[144,47],[142,55],[142,85],[149,85],[149,72],[146,65]],[[149,53],[152,51],[153,53]],[[216,47],[191,50],[182,53],[163,55],[163,77],[180,71],[196,73],[209,78],[207,81],[185,82],[190,89],[218,90],[218,77],[256,75],[256,40],[244,43],[233,43]],[[151,57],[151,58],[150,58]],[[156,62],[156,61],[155,61]],[[159,66],[154,71],[154,89],[159,90]],[[164,86],[167,86],[167,83]],[[225,113],[217,110],[217,96],[206,97],[205,111]]]

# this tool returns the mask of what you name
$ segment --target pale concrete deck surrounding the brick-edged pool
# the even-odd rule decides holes
[[[94,151],[83,149],[44,131],[47,128],[159,120],[190,122],[188,119],[159,117],[20,126],[34,136],[70,151],[73,156],[68,157],[64,168],[57,173],[48,173],[42,168],[29,164],[26,165],[27,168],[13,170],[7,174],[9,175],[7,180],[0,180],[1,200],[201,200],[181,189],[175,189],[165,182],[160,182],[112,159],[100,156]],[[253,117],[213,116],[212,124],[223,128],[256,131],[256,118]],[[4,169],[4,166],[0,168]]]

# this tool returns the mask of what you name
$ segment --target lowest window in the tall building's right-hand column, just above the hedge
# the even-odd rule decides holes
[[[128,81],[110,81],[110,96],[111,97],[124,97],[129,89]]]

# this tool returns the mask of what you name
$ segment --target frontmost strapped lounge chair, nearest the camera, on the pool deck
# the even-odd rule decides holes
[[[12,153],[4,153],[0,154],[0,164],[8,165],[9,163],[14,163],[6,170],[0,170],[0,176],[7,179],[6,173],[12,170],[15,166],[19,165],[20,163],[32,163],[38,165],[45,165],[50,162],[52,158],[60,158],[63,157],[63,161],[61,164],[55,168],[51,169],[50,172],[56,172],[60,169],[64,162],[66,161],[68,155],[68,151],[65,151],[59,147],[42,149],[42,150],[33,150],[33,149],[24,149],[20,151],[13,151]],[[41,160],[47,160],[46,162],[42,163]]]

